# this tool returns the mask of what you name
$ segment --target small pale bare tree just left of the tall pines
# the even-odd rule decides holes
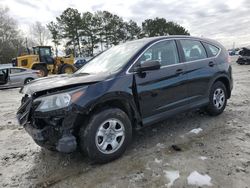
[[[50,33],[48,29],[42,25],[41,22],[35,22],[35,24],[31,26],[30,32],[33,36],[34,41],[38,45],[44,46],[48,43]]]

